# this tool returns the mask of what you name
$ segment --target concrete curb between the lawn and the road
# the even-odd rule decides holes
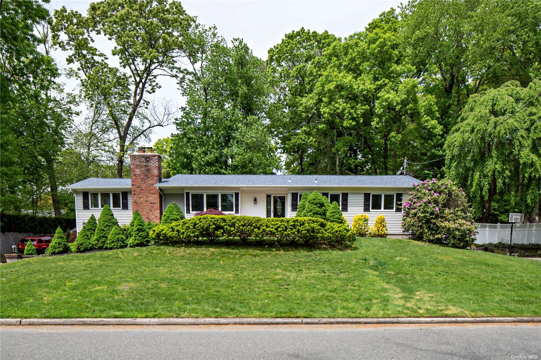
[[[292,325],[541,323],[541,317],[0,319],[0,325]]]

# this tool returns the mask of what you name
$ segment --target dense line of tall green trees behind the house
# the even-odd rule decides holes
[[[346,38],[289,32],[265,60],[175,1],[1,11],[3,211],[50,198],[60,215],[62,185],[128,176],[126,154],[175,122],[155,144],[164,177],[406,172],[457,182],[485,222],[539,219],[539,2],[410,1]],[[94,47],[98,34],[120,66]],[[62,92],[54,47],[77,94]],[[186,98],[178,112],[149,97],[165,76]],[[75,122],[77,105],[88,111]]]

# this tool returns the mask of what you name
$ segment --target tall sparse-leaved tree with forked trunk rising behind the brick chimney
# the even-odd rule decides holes
[[[149,94],[163,76],[177,76],[184,58],[184,43],[194,24],[178,1],[104,0],[91,3],[87,16],[55,11],[55,41],[69,52],[68,64],[76,69],[87,98],[98,96],[114,125],[118,141],[117,177],[123,175],[124,157],[138,138],[156,126],[167,125],[169,117],[144,114]],[[93,45],[103,34],[114,41],[111,55],[121,71],[109,65],[107,56]]]

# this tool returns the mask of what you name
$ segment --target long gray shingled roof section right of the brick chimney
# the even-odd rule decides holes
[[[315,182],[317,178],[318,182]],[[289,182],[291,179],[291,182]],[[196,175],[179,174],[162,186],[396,186],[409,187],[418,179],[408,175]]]

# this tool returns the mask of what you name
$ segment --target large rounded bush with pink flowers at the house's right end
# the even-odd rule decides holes
[[[429,243],[471,246],[476,229],[464,191],[448,180],[425,180],[413,186],[402,206],[404,230]]]

